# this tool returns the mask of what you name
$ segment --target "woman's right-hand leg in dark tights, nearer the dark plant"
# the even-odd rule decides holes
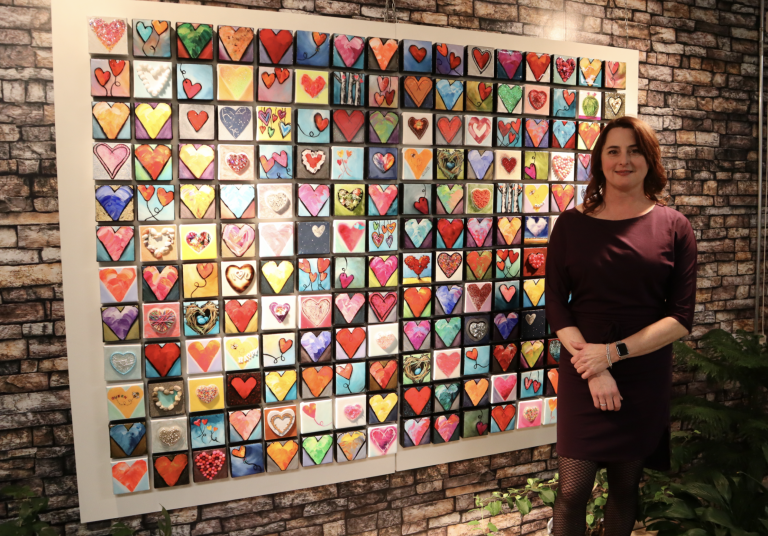
[[[643,460],[608,464],[605,536],[628,536],[632,533],[637,515],[637,490],[642,476]]]

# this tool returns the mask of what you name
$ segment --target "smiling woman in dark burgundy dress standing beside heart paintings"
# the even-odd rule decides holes
[[[653,130],[616,119],[592,151],[583,205],[550,237],[547,319],[562,344],[556,536],[583,536],[598,467],[606,536],[631,533],[643,467],[669,468],[672,342],[693,324],[696,240],[659,201],[666,182]]]

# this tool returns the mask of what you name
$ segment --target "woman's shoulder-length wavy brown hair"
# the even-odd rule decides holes
[[[628,128],[635,133],[637,148],[648,163],[648,175],[645,176],[643,189],[645,197],[651,201],[662,203],[659,194],[667,184],[667,171],[661,163],[661,148],[656,133],[647,123],[635,117],[620,117],[606,125],[600,137],[592,149],[592,172],[584,194],[583,212],[594,212],[603,204],[603,192],[605,191],[605,175],[603,174],[603,147],[608,139],[608,133],[614,128]]]

